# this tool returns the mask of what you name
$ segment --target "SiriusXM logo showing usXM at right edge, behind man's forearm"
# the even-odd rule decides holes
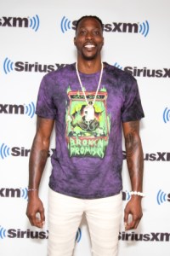
[[[122,151],[123,160],[127,159],[126,151]],[[170,161],[170,152],[156,152],[144,154],[145,161]]]

